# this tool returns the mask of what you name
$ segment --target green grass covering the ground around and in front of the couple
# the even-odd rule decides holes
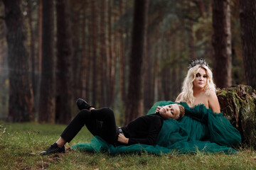
[[[39,153],[58,140],[65,125],[0,123],[0,169],[256,169],[256,152],[238,154],[93,154],[68,149],[65,154],[41,157]],[[82,128],[66,147],[88,142]]]

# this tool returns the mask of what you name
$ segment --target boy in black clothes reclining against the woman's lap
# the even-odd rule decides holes
[[[184,108],[178,104],[170,104],[156,109],[156,113],[143,115],[132,120],[127,126],[117,128],[114,113],[110,108],[95,109],[81,98],[77,101],[80,112],[70,122],[60,135],[60,138],[48,149],[41,152],[42,155],[64,153],[65,143],[73,140],[75,135],[86,125],[92,135],[102,137],[111,145],[134,145],[137,143],[156,145],[164,120],[178,120],[184,115]]]

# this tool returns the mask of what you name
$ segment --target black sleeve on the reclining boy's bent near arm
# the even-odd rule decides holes
[[[154,122],[151,122],[151,125],[149,125],[149,134],[147,135],[147,137],[129,137],[128,145],[134,145],[137,143],[145,145],[156,145],[156,138],[159,135],[162,125],[163,120],[161,120],[161,118],[157,118],[156,120],[154,120]]]

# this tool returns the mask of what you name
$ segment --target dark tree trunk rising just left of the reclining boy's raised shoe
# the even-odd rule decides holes
[[[69,0],[57,0],[57,70],[56,118],[57,123],[69,123],[72,117],[72,38],[70,32]]]

